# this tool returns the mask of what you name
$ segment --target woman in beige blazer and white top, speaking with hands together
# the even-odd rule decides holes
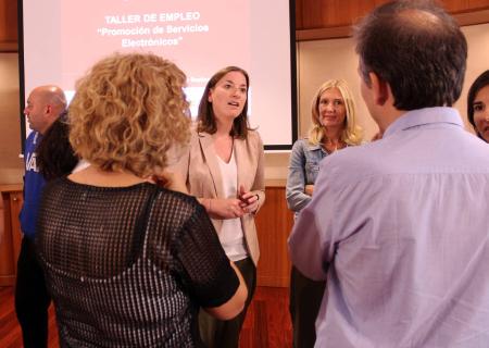
[[[265,201],[262,139],[248,123],[249,77],[228,66],[205,86],[190,148],[176,165],[190,195],[205,207],[228,258],[248,286],[242,312],[230,321],[199,314],[209,347],[238,347],[239,332],[256,286],[260,257],[254,215]]]

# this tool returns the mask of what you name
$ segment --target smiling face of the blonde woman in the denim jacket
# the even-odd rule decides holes
[[[326,89],[319,97],[317,105],[319,123],[323,127],[343,127],[347,108],[338,88]]]

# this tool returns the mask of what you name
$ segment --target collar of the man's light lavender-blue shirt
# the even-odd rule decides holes
[[[464,127],[456,109],[447,107],[425,108],[404,113],[387,127],[383,137],[385,138],[397,132],[432,123],[450,123]]]

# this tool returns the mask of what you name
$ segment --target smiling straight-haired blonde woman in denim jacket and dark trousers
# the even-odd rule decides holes
[[[356,124],[355,103],[342,79],[329,79],[316,91],[311,110],[313,127],[309,138],[292,147],[287,177],[287,206],[297,214],[311,200],[319,162],[348,146],[362,142],[362,129]],[[325,293],[326,282],[315,282],[292,266],[290,275],[290,314],[293,347],[314,346],[314,323]]]

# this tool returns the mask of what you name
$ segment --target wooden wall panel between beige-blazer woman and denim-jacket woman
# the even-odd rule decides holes
[[[266,201],[256,214],[260,241],[259,286],[289,286],[290,260],[287,238],[293,225],[285,187],[266,187]]]

